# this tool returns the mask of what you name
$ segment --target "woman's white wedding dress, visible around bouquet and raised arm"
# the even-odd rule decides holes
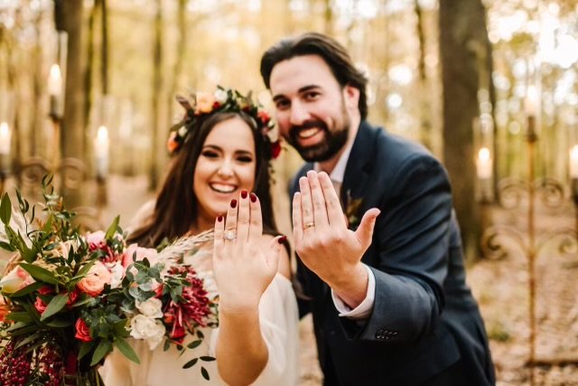
[[[210,293],[218,293],[213,279],[210,252],[197,252],[185,258],[202,278],[205,287]],[[277,274],[267,287],[259,303],[259,321],[261,332],[268,349],[268,361],[253,385],[258,386],[295,386],[299,381],[299,332],[298,311],[291,282],[284,276]],[[185,349],[179,352],[174,345],[168,351],[163,351],[160,344],[153,351],[149,350],[144,341],[129,339],[141,361],[136,364],[115,350],[107,356],[100,375],[106,386],[217,386],[226,385],[219,377],[217,361],[198,361],[189,369],[182,369],[182,365],[194,357],[209,355],[215,357],[215,349],[219,338],[219,327],[203,328],[205,338],[193,350]],[[239,334],[243,334],[239,331]],[[196,339],[196,338],[195,338]],[[191,336],[185,339],[184,344],[193,340]],[[210,376],[205,380],[200,372],[203,366]]]

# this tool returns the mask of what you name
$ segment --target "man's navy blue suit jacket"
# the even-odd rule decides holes
[[[303,166],[292,193],[311,169]],[[325,385],[427,384],[456,362],[467,378],[452,384],[493,384],[443,165],[423,146],[361,122],[340,194],[342,202],[362,199],[359,218],[381,210],[362,258],[376,293],[367,320],[340,317],[329,287],[298,260],[297,278],[310,297],[299,300],[300,314],[312,312]]]

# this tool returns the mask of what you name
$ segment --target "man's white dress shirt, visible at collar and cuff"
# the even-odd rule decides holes
[[[329,175],[331,178],[331,183],[335,188],[335,192],[341,197],[341,184],[343,184],[343,177],[345,175],[345,167],[350,159],[351,148],[353,143],[350,143],[343,153],[340,155],[340,159],[333,168],[333,171]],[[319,163],[313,164],[313,169],[316,172],[321,172],[321,167]],[[342,203],[342,202],[341,202]],[[351,319],[366,319],[369,314],[371,314],[371,309],[373,308],[373,303],[376,297],[376,278],[373,275],[371,269],[364,264],[364,267],[368,269],[368,292],[365,299],[359,304],[359,306],[351,309],[350,306],[345,304],[340,297],[338,297],[333,289],[331,289],[331,297],[333,298],[333,304],[335,308],[340,312],[340,316],[350,317]]]

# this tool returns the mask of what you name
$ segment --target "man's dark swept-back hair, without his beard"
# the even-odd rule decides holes
[[[269,48],[261,58],[261,76],[266,88],[270,88],[271,72],[277,63],[303,55],[319,55],[330,67],[341,87],[349,85],[359,89],[359,113],[361,119],[368,117],[368,79],[355,67],[345,47],[322,33],[303,33],[283,39]]]

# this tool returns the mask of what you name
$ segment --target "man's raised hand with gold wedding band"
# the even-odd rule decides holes
[[[310,171],[299,179],[299,189],[293,199],[295,251],[345,303],[359,306],[368,286],[361,257],[371,244],[379,210],[369,209],[358,230],[350,231],[329,175]]]

